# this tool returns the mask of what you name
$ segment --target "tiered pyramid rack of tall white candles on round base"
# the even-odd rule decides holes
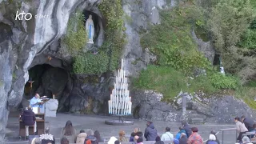
[[[134,124],[134,122],[124,120],[124,116],[131,114],[132,102],[130,98],[130,91],[128,90],[123,60],[121,62],[121,69],[118,70],[118,76],[115,78],[114,89],[112,90],[112,94],[110,94],[108,106],[109,114],[118,116],[119,120],[105,121],[106,124],[116,126],[127,126]]]

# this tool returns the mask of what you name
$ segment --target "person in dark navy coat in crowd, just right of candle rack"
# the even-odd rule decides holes
[[[154,128],[153,122],[146,122],[146,129],[144,133],[144,137],[146,141],[155,141],[155,138],[158,136],[158,131]]]

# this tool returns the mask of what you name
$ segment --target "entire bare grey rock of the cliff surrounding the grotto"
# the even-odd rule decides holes
[[[65,52],[65,46],[59,42],[66,33],[70,14],[75,10],[90,10],[98,15],[99,35],[95,43],[101,46],[104,30],[102,15],[97,8],[99,2],[100,0],[0,0],[0,142],[4,138],[10,108],[18,106],[22,101],[24,85],[29,79],[28,70],[37,65],[52,66],[41,75],[42,83],[38,86],[37,92],[52,94],[54,91],[54,94],[61,96],[58,98],[59,111],[82,113],[86,112],[83,110],[87,110],[107,114],[106,102],[113,88],[114,74],[94,77],[71,75],[70,54]],[[123,0],[127,44],[122,58],[126,62],[126,76],[138,76],[140,70],[156,61],[156,56],[149,50],[142,50],[140,34],[148,30],[149,23],[161,23],[159,10],[172,8],[176,2]],[[37,18],[29,21],[25,18],[15,19],[17,11],[30,13],[33,17],[37,15]],[[193,36],[198,42],[199,50],[213,61],[214,49],[210,42],[202,42],[194,33]],[[154,90],[134,90],[132,96],[134,118],[179,121],[182,115],[179,110],[180,101],[173,105],[161,102],[162,94]],[[244,102],[230,96],[210,98],[207,102],[194,102],[192,99],[188,100],[187,109],[205,115],[206,122],[230,122],[233,116],[250,109]],[[27,102],[22,103],[27,105]],[[233,103],[234,106],[241,107],[238,109],[232,105]],[[227,116],[230,114],[232,117]],[[250,114],[254,116],[253,110],[250,110]]]

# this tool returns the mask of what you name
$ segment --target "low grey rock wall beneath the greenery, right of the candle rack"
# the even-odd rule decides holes
[[[239,98],[229,95],[186,94],[186,119],[202,118],[206,123],[230,124],[235,117],[256,118],[256,111]],[[134,90],[134,118],[179,122],[182,118],[182,93],[174,102],[162,102],[162,94],[154,90]]]

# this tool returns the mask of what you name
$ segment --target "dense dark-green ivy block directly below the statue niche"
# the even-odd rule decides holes
[[[108,56],[105,53],[79,54],[74,58],[73,69],[75,74],[102,74],[106,72]]]

